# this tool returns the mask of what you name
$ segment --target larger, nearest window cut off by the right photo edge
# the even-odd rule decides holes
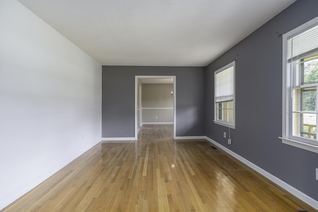
[[[318,153],[318,17],[283,35],[284,143]]]

